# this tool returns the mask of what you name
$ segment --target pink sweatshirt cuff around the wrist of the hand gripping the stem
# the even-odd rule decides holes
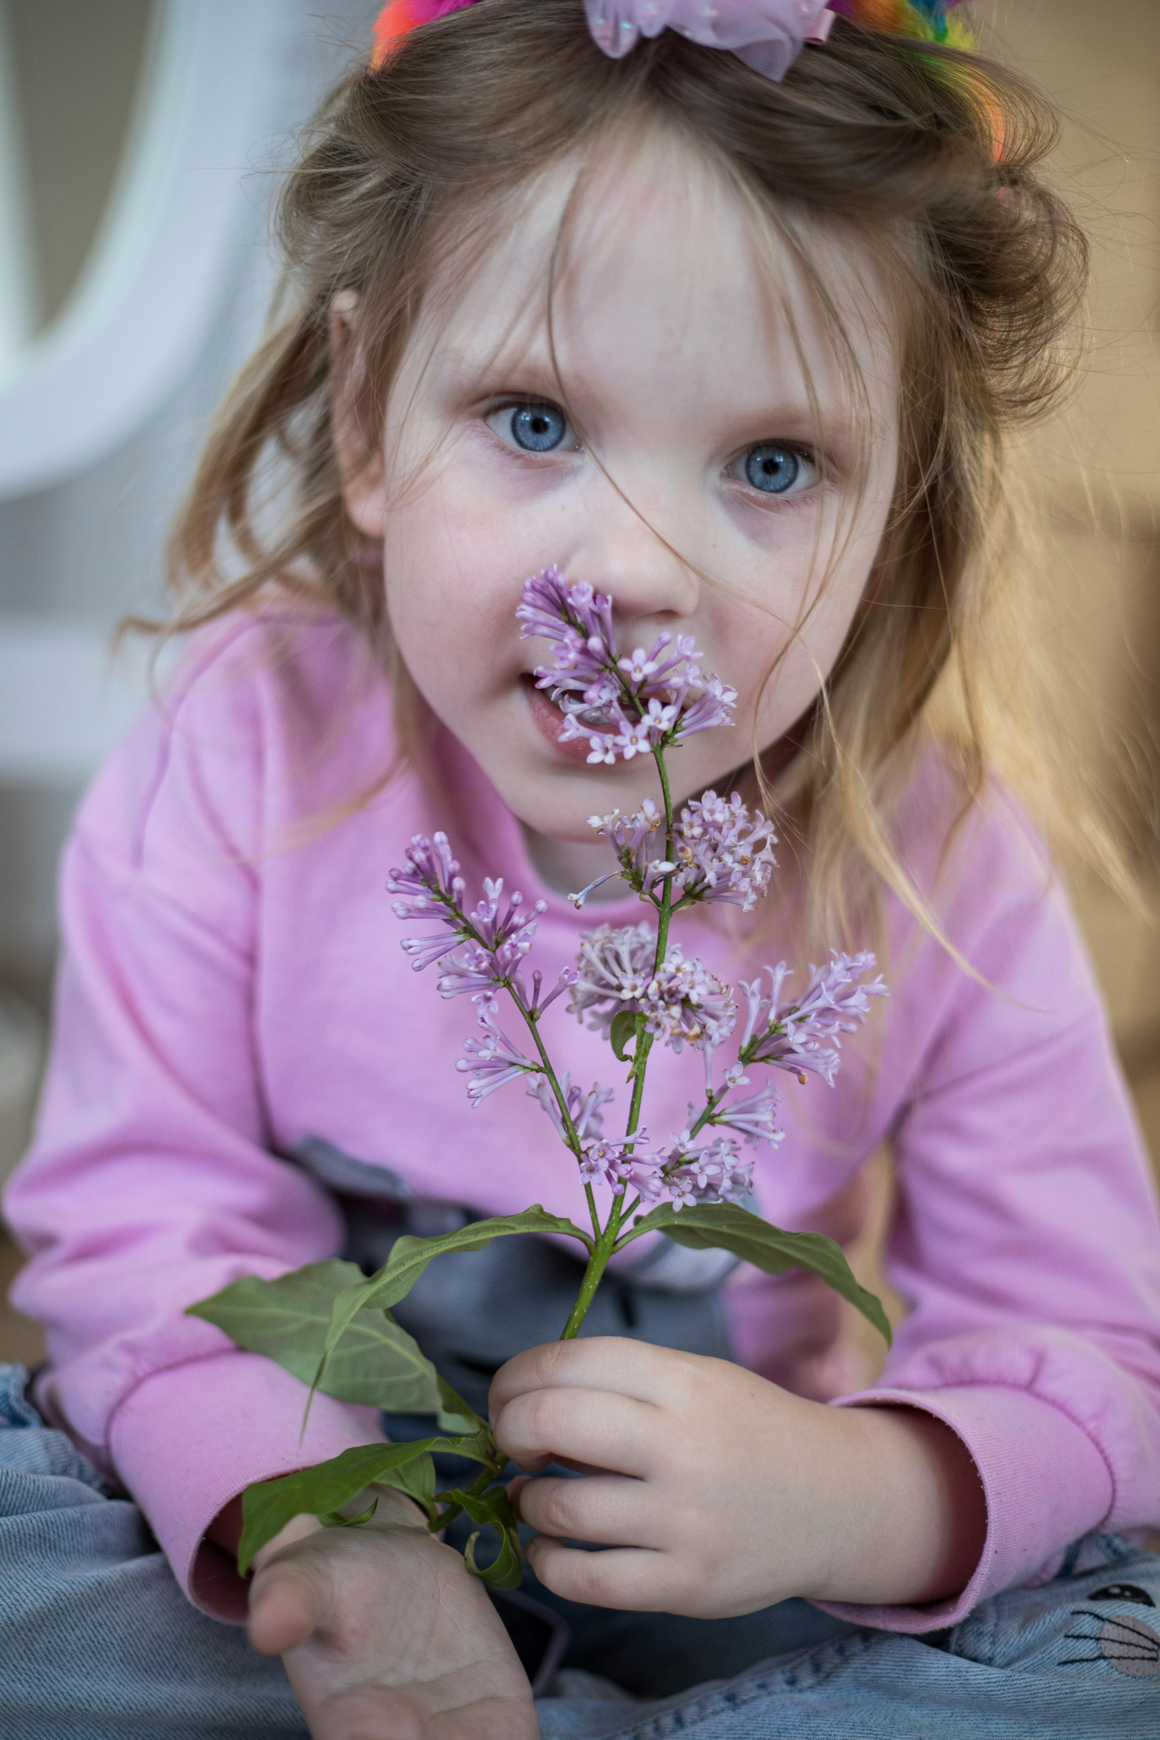
[[[939,1390],[863,1390],[835,1408],[920,1408],[967,1446],[986,1496],[986,1540],[958,1596],[923,1606],[817,1601],[854,1625],[927,1632],[958,1625],[1003,1589],[1026,1583],[1080,1535],[1099,1528],[1115,1486],[1104,1456],[1082,1425],[1030,1390],[950,1385]]]

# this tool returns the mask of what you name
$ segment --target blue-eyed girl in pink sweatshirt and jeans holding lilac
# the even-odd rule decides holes
[[[5,1201],[52,1355],[0,1439],[10,1740],[1160,1733],[1160,1561],[1123,1533],[1160,1522],[1155,1202],[988,734],[1017,701],[984,661],[1009,432],[1054,400],[1082,287],[1049,139],[941,3],[386,7],[177,524],[197,633],[64,863]],[[623,644],[694,633],[739,693],[673,769],[760,783],[783,900],[706,908],[697,952],[730,980],[817,940],[885,957],[882,1025],[788,1101],[755,1188],[847,1239],[889,1138],[910,1312],[859,1389],[802,1275],[645,1251],[560,1345],[569,1258],[433,1265],[400,1319],[470,1399],[490,1380],[525,1474],[558,1465],[515,1488],[525,1599],[501,1613],[390,1493],[362,1529],[299,1517],[247,1590],[247,1482],[421,1423],[318,1397],[303,1441],[303,1387],[184,1307],[574,1206],[539,1107],[447,1094],[463,1013],[383,893],[449,825],[470,880],[546,901],[550,974],[597,922],[565,898],[610,868],[586,818],[654,792],[643,757],[562,745],[530,680],[513,612],[550,562]],[[597,919],[635,922],[610,887]],[[607,1053],[570,1028],[567,1061]],[[657,1128],[685,1061],[654,1065]]]

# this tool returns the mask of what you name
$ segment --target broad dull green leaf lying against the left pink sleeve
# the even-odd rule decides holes
[[[303,1383],[311,1383],[327,1345],[334,1302],[362,1281],[357,1263],[339,1262],[310,1263],[278,1281],[245,1275],[212,1298],[190,1305],[188,1314],[216,1322],[238,1347],[266,1354]],[[339,1401],[365,1402],[390,1413],[433,1415],[442,1408],[435,1366],[384,1310],[357,1312],[320,1389]],[[464,1422],[471,1425],[473,1416],[447,1418],[452,1430]]]

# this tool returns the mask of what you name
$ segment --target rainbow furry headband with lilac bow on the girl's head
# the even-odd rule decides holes
[[[417,30],[477,0],[388,0],[374,24],[372,70]],[[965,23],[951,14],[962,0],[584,0],[593,40],[612,59],[630,54],[642,37],[677,30],[704,47],[730,49],[755,71],[784,78],[807,42],[824,42],[835,17],[868,30],[974,49]],[[579,0],[577,0],[579,5]]]

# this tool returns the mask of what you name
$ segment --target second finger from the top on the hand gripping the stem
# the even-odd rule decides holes
[[[522,1469],[562,1460],[643,1477],[657,1462],[664,1415],[650,1402],[607,1390],[539,1389],[506,1402],[492,1432]]]

